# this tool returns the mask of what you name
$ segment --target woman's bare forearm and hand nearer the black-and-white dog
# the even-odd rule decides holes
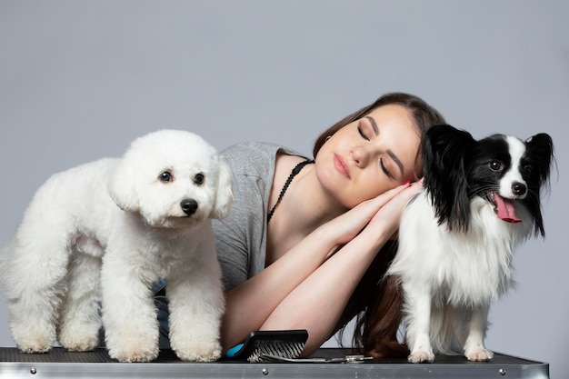
[[[381,246],[396,232],[404,205],[417,186],[379,209],[362,233],[320,265],[278,304],[262,329],[308,330],[304,354],[312,354],[333,333],[356,285]]]

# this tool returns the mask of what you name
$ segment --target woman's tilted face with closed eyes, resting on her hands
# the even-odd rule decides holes
[[[326,192],[352,208],[414,179],[420,139],[404,106],[380,106],[324,143],[316,175]]]

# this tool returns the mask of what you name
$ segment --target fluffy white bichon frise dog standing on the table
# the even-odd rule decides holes
[[[2,254],[15,343],[26,353],[47,352],[56,338],[91,350],[102,321],[111,357],[151,361],[159,351],[152,284],[165,278],[175,353],[219,358],[225,299],[209,219],[225,217],[232,202],[223,157],[184,131],[142,136],[120,159],[53,175]]]

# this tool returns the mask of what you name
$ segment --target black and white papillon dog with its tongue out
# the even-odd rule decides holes
[[[477,141],[437,125],[426,133],[422,153],[424,190],[404,210],[388,270],[403,286],[408,359],[433,362],[440,353],[490,360],[488,310],[513,283],[514,248],[544,236],[540,189],[548,184],[552,139]]]

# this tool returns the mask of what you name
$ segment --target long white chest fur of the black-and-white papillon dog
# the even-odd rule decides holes
[[[478,197],[471,210],[466,233],[449,231],[438,224],[427,194],[419,194],[404,212],[399,252],[389,274],[426,285],[436,303],[475,305],[504,293],[512,284],[514,248],[533,227],[531,218],[520,207],[524,222],[506,223]]]

